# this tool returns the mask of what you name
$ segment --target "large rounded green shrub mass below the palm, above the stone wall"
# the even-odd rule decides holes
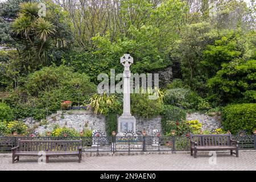
[[[88,76],[74,73],[65,66],[45,67],[24,80],[24,86],[12,90],[5,98],[5,102],[13,108],[16,119],[32,116],[40,120],[60,110],[61,102],[65,100],[78,105],[96,93],[96,85],[90,82]]]

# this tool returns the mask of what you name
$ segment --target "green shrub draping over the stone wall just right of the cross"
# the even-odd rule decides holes
[[[186,119],[185,110],[172,105],[163,105],[161,114],[162,114],[162,119],[161,119],[162,130],[164,134],[172,130],[172,128],[167,125],[168,121],[181,122]]]

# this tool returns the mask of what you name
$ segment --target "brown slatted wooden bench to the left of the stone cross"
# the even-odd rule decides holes
[[[19,156],[39,156],[40,151],[45,152],[46,163],[49,162],[49,156],[64,155],[78,156],[81,163],[82,140],[19,140],[18,146],[11,148],[11,151],[13,163],[19,161]]]

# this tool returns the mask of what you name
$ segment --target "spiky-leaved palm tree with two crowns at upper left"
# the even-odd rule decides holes
[[[38,3],[28,2],[20,5],[18,18],[12,24],[13,33],[28,40],[27,47],[35,52],[40,63],[47,62],[48,49],[51,47],[51,35],[55,28],[51,22],[39,17]]]

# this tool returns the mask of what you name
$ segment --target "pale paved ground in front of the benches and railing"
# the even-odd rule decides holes
[[[48,164],[38,164],[37,157],[20,157],[11,163],[11,155],[0,155],[0,170],[95,170],[95,171],[161,171],[161,170],[253,170],[256,171],[256,151],[240,151],[239,158],[229,152],[217,152],[217,164],[209,164],[208,153],[198,153],[197,159],[190,154],[130,155],[130,156],[83,156],[77,163],[76,157],[49,158]]]

